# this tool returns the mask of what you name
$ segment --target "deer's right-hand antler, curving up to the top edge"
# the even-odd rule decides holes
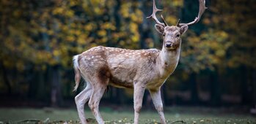
[[[198,0],[199,1],[199,12],[197,17],[194,19],[194,21],[190,22],[190,23],[180,23],[178,24],[178,26],[184,26],[184,25],[193,25],[194,23],[198,23],[203,12],[205,12],[205,9],[207,9],[207,7],[205,7],[205,0]]]

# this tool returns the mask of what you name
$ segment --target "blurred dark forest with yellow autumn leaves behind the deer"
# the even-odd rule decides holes
[[[187,23],[197,0],[157,0],[167,20]],[[255,0],[206,0],[182,36],[178,67],[162,88],[165,106],[256,104]],[[151,0],[1,0],[0,106],[74,105],[73,55],[98,45],[161,49]],[[81,83],[82,84],[82,83]],[[152,106],[149,93],[144,104]],[[102,104],[131,104],[133,91],[109,88]]]

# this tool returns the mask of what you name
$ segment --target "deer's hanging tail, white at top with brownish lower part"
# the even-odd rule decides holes
[[[79,65],[78,65],[78,61],[79,61],[78,59],[79,59],[79,55],[75,55],[73,57],[73,66],[74,66],[74,70],[75,70],[75,81],[76,81],[76,86],[74,87],[73,91],[77,90],[80,80],[81,80],[81,72],[80,72]]]

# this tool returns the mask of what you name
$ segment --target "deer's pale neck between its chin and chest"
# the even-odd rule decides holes
[[[181,43],[180,43],[181,44]],[[164,45],[158,56],[158,69],[161,77],[167,77],[175,70],[180,59],[180,46],[176,50],[167,50]]]

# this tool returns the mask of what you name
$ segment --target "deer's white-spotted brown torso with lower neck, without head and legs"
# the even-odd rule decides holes
[[[117,88],[134,88],[134,82],[144,82],[147,89],[160,87],[175,70],[180,49],[127,50],[114,47],[92,47],[74,58],[85,75],[98,75]],[[79,66],[82,65],[82,66]],[[104,78],[104,79],[103,79]],[[77,84],[78,85],[78,84]],[[78,86],[77,86],[78,87]]]

